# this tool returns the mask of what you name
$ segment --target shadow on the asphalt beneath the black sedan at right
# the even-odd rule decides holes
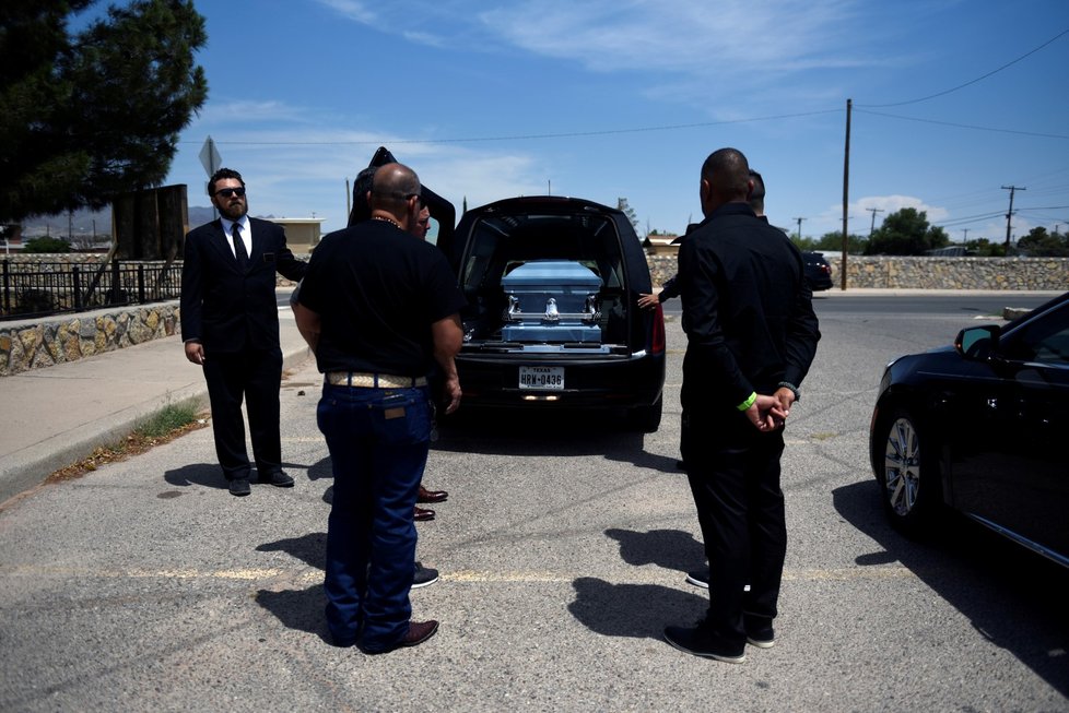
[[[883,518],[872,480],[832,497],[843,518],[884,548],[859,556],[859,566],[901,562],[985,638],[1069,694],[1069,570],[951,511],[929,542],[909,540]]]

